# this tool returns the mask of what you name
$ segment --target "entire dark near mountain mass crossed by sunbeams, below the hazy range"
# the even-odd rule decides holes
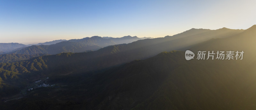
[[[26,91],[46,77],[48,84],[57,85],[27,90],[20,100],[2,98],[0,108],[255,109],[255,36],[256,25],[247,30],[191,29],[97,51],[0,63],[1,97]],[[244,51],[244,58],[187,61],[184,50]]]

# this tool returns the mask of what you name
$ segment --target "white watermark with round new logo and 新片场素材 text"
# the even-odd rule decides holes
[[[238,51],[217,51],[217,52],[214,52],[214,51],[198,51],[197,52],[197,57],[196,59],[197,60],[208,60],[208,59],[220,59],[220,60],[232,60],[232,59],[240,59],[242,60],[243,59],[243,54],[244,54],[244,51],[242,52],[238,52]],[[207,56],[207,57],[206,57]],[[185,58],[186,60],[190,60],[190,59],[194,59],[195,57],[195,54],[189,50],[187,50],[185,52]]]

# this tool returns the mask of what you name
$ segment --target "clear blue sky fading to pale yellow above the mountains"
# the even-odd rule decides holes
[[[92,36],[164,37],[191,28],[247,29],[255,0],[0,0],[0,43]]]

